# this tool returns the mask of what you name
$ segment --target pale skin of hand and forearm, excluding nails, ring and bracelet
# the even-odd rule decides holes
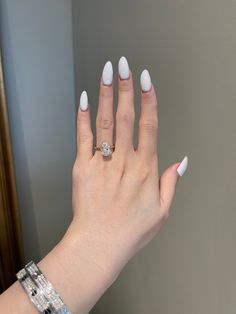
[[[132,73],[118,78],[113,118],[113,85],[101,78],[94,138],[90,110],[77,114],[77,156],[72,171],[73,220],[62,240],[37,262],[72,313],[86,314],[127,262],[167,220],[179,178],[171,165],[159,176],[158,103],[154,86],[141,91],[138,146],[133,146]],[[105,160],[93,145],[113,143]],[[18,282],[0,296],[1,313],[38,313]]]

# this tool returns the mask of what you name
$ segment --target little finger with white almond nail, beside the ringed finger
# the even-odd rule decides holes
[[[88,95],[83,91],[77,113],[77,157],[89,160],[93,155],[93,133],[91,130]]]

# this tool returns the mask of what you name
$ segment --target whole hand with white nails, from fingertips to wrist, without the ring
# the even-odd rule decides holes
[[[147,70],[141,74],[138,147],[133,147],[134,90],[127,60],[119,61],[115,151],[93,154],[93,133],[86,92],[77,119],[77,157],[73,167],[73,225],[96,250],[122,268],[166,221],[187,157],[159,178],[157,99]],[[96,143],[113,144],[113,69],[107,62],[100,82]],[[99,260],[96,259],[99,263]],[[101,267],[104,259],[101,258]]]

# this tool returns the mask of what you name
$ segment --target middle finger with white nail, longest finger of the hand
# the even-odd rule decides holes
[[[116,112],[116,151],[122,154],[133,150],[134,89],[132,73],[125,57],[119,64],[118,107]]]

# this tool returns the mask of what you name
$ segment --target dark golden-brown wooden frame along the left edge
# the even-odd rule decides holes
[[[23,240],[0,50],[0,293],[24,265]]]

